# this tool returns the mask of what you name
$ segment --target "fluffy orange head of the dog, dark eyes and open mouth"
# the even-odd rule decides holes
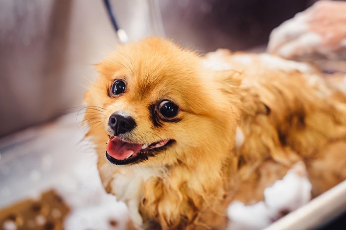
[[[230,147],[237,115],[195,53],[148,38],[121,46],[97,69],[85,121],[99,158],[170,165],[226,154],[218,152]]]

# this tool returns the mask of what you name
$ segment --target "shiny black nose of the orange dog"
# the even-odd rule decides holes
[[[136,122],[132,117],[119,115],[117,113],[109,117],[108,124],[114,130],[114,136],[129,132],[136,126]]]

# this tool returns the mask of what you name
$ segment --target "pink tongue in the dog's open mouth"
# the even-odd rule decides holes
[[[118,160],[126,159],[126,157],[132,153],[132,156],[138,154],[139,150],[142,148],[141,144],[132,144],[120,140],[118,137],[112,138],[107,144],[107,153]]]

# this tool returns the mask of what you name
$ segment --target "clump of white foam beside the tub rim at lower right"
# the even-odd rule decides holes
[[[298,162],[282,180],[264,190],[264,200],[253,205],[233,201],[227,209],[229,230],[259,230],[270,225],[282,215],[291,212],[311,199],[311,183],[305,165]]]

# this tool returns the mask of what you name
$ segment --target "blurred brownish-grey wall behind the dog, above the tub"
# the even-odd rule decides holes
[[[269,33],[315,0],[111,0],[131,40],[165,35],[202,52],[264,50]],[[159,7],[162,27],[151,14]],[[155,8],[155,7],[154,7]],[[0,137],[80,106],[117,45],[102,0],[0,0]]]

